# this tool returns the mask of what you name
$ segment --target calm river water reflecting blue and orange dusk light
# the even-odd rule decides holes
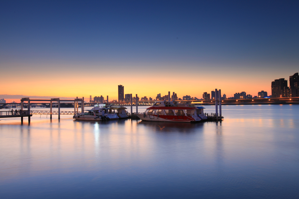
[[[299,198],[299,105],[222,114],[196,124],[2,119],[0,198]]]

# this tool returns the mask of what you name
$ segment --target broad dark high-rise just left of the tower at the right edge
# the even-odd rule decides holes
[[[280,78],[271,82],[271,93],[273,98],[289,97],[287,95],[289,93],[288,80]]]

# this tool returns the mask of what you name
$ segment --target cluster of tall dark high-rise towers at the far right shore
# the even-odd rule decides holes
[[[284,78],[275,79],[271,83],[271,92],[273,98],[278,97],[299,97],[299,77],[298,73],[289,76],[290,86],[288,86],[288,80]]]

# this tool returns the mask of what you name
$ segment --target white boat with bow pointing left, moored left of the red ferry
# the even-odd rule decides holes
[[[109,105],[95,104],[91,110],[73,116],[76,120],[118,120],[118,114]]]

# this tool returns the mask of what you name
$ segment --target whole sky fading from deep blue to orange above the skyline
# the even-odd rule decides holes
[[[139,97],[271,95],[271,81],[299,72],[298,10],[299,1],[1,1],[0,96],[112,100],[120,84]]]

